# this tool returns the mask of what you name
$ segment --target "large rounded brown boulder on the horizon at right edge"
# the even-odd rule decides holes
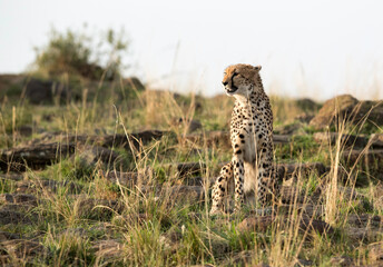
[[[315,129],[343,121],[359,123],[367,116],[375,125],[383,125],[383,105],[379,101],[359,101],[351,95],[342,95],[327,100],[318,113],[310,121]]]

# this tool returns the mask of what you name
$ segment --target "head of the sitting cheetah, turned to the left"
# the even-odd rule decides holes
[[[257,90],[261,66],[232,65],[225,69],[222,83],[228,96],[248,98]]]

